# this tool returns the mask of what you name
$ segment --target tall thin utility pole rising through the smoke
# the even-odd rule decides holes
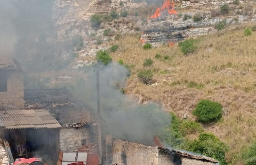
[[[99,64],[97,64],[97,68],[96,68],[96,88],[97,88],[97,114],[98,114],[98,155],[99,155],[99,165],[101,165],[102,164],[102,146],[101,146]]]

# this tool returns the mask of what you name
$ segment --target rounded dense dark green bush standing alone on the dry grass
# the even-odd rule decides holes
[[[222,115],[222,106],[217,102],[210,100],[201,100],[193,111],[193,115],[197,116],[202,122],[210,122],[220,119]]]

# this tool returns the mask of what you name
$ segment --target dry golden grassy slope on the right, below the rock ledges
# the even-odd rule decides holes
[[[126,64],[135,65],[127,81],[127,93],[159,102],[180,117],[188,114],[194,119],[191,112],[201,99],[221,103],[223,119],[203,127],[229,145],[227,160],[231,164],[241,164],[239,152],[256,138],[256,33],[244,36],[243,29],[200,37],[198,51],[188,56],[181,53],[177,44],[144,50],[139,35],[114,41],[119,49],[111,54],[116,61],[123,59]],[[170,59],[155,59],[156,53]],[[144,69],[145,58],[154,60],[149,68],[158,85],[145,85],[137,78],[137,72]],[[191,82],[200,85],[190,88]]]

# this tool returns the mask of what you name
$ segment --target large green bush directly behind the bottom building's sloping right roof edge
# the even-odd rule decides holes
[[[227,165],[225,152],[228,147],[212,133],[201,133],[198,140],[188,142],[186,150],[212,157],[218,160],[220,165]]]

